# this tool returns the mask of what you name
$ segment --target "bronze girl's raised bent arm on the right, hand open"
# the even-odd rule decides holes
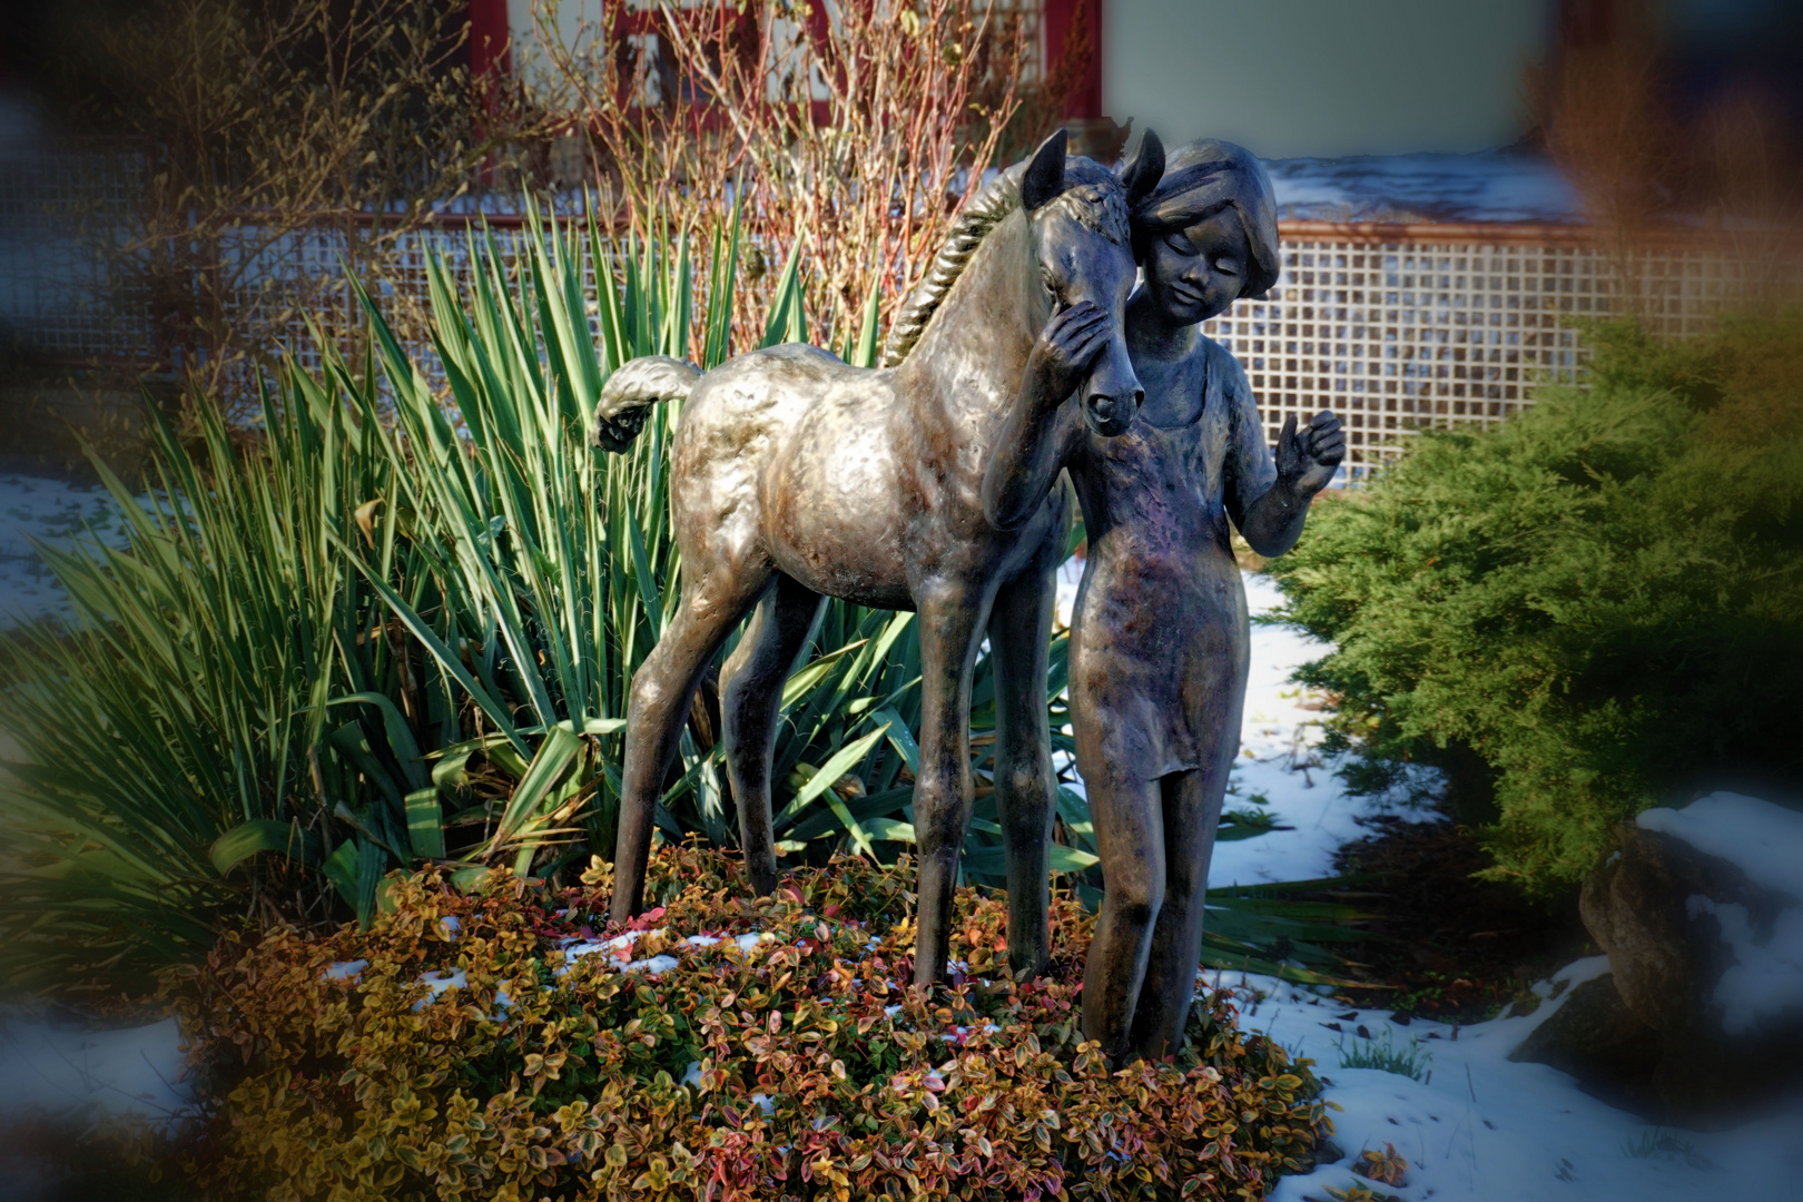
[[[1222,366],[1230,366],[1224,391],[1233,405],[1224,497],[1228,517],[1251,550],[1277,559],[1302,537],[1309,501],[1327,487],[1345,458],[1345,434],[1340,418],[1325,409],[1300,433],[1291,414],[1277,438],[1273,461],[1246,371],[1226,351],[1221,359],[1226,360]]]

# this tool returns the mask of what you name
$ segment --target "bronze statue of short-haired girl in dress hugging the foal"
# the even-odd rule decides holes
[[[1130,429],[1098,436],[1066,404],[1118,321],[1080,301],[1046,326],[983,481],[997,526],[1031,519],[1060,470],[1089,557],[1071,627],[1071,719],[1102,854],[1103,903],[1084,970],[1084,1033],[1112,1058],[1176,1051],[1203,946],[1215,824],[1239,751],[1246,595],[1228,523],[1266,557],[1302,533],[1345,436],[1331,413],[1277,460],[1246,373],[1199,323],[1277,283],[1277,205],[1258,160],[1192,142],[1136,160],[1158,187],[1132,207],[1145,281],[1127,350],[1147,386]]]

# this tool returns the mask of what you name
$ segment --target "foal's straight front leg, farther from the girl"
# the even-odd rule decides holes
[[[914,838],[920,883],[914,984],[943,980],[957,856],[970,825],[970,665],[988,598],[965,582],[929,580],[920,591],[920,777]]]

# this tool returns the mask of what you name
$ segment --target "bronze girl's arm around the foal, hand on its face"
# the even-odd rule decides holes
[[[1046,323],[983,474],[983,515],[992,526],[1011,530],[1024,523],[1058,479],[1073,436],[1082,429],[1076,409],[1064,400],[1107,337],[1107,314],[1087,301]]]

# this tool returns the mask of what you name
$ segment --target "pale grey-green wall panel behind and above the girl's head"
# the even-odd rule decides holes
[[[1527,121],[1549,0],[1102,0],[1102,103],[1266,159],[1469,151]]]

